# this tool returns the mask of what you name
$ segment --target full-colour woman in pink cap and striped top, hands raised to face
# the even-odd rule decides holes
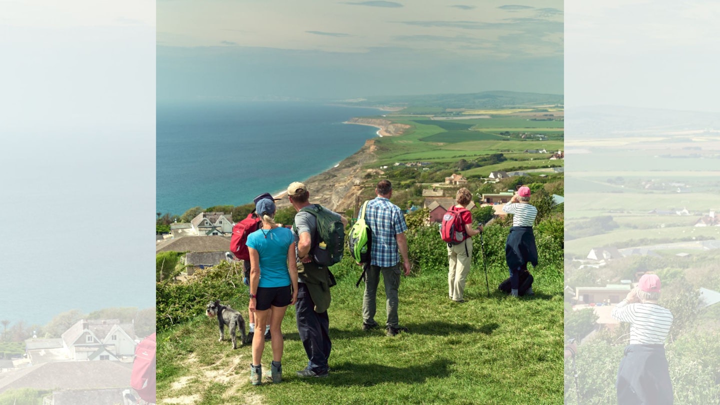
[[[510,294],[517,297],[520,288],[520,275],[528,271],[528,263],[538,265],[538,252],[535,246],[533,224],[538,210],[530,204],[530,187],[520,187],[510,203],[503,206],[503,211],[513,214],[513,227],[510,228],[508,240],[505,241],[505,262],[510,272]],[[532,295],[532,285],[526,291]]]

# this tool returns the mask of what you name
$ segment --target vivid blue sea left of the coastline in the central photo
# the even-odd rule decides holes
[[[344,121],[379,114],[299,102],[158,104],[156,212],[182,215],[282,192],[377,136],[377,128]]]

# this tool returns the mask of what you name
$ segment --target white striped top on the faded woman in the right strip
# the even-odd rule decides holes
[[[621,301],[612,316],[630,323],[630,344],[663,344],[672,326],[672,313],[655,303]]]

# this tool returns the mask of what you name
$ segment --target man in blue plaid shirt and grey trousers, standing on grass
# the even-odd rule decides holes
[[[381,180],[375,187],[375,197],[367,203],[365,222],[372,231],[372,247],[370,265],[365,273],[365,294],[362,302],[362,329],[367,331],[377,327],[375,316],[375,297],[377,285],[382,273],[387,297],[387,336],[395,336],[400,331],[408,331],[398,324],[397,320],[397,288],[400,287],[400,256],[405,275],[410,275],[410,259],[408,258],[408,239],[405,231],[405,215],[397,205],[390,203],[392,184]],[[400,254],[398,254],[398,252]]]

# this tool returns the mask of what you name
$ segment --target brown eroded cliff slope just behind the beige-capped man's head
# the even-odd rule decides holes
[[[337,167],[307,179],[305,185],[310,191],[310,202],[320,203],[338,212],[354,208],[356,197],[362,191],[359,184],[367,172],[361,166],[377,160],[374,143],[374,139],[369,139],[359,151],[341,161]],[[284,198],[277,201],[277,205],[287,207],[289,201]]]

